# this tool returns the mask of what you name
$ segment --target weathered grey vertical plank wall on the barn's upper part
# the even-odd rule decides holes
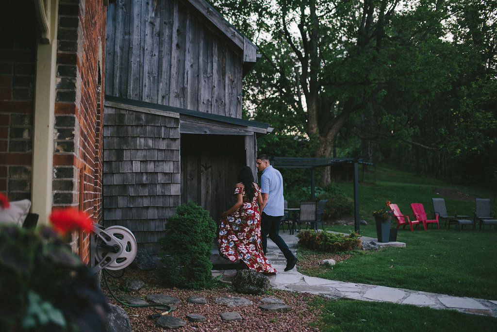
[[[242,118],[242,56],[182,0],[107,7],[106,94]]]

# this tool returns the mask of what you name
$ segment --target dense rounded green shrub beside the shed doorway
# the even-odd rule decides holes
[[[159,239],[164,282],[180,288],[212,287],[209,258],[215,237],[216,223],[206,210],[193,202],[178,206],[167,220],[166,235]]]

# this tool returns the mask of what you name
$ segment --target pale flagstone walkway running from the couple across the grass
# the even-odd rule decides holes
[[[288,232],[280,232],[280,236],[295,253],[297,251],[297,237],[289,235]],[[362,237],[363,242],[376,242],[376,240]],[[406,246],[406,244],[401,242],[377,244],[380,247]],[[473,299],[394,287],[334,281],[303,275],[297,271],[297,268],[284,272],[286,259],[278,247],[269,239],[267,241],[267,251],[266,257],[271,262],[271,265],[278,270],[278,274],[269,276],[271,286],[277,289],[307,292],[331,298],[413,304],[420,307],[452,309],[464,313],[497,317],[497,300]],[[213,270],[212,273],[215,276],[222,275],[221,280],[230,282],[236,270]]]

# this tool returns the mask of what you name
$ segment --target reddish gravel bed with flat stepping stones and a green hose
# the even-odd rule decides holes
[[[139,291],[119,290],[119,284],[126,279],[142,280],[145,282],[145,286]],[[170,315],[186,321],[186,325],[174,331],[320,331],[317,322],[321,317],[324,301],[319,301],[322,297],[309,293],[270,290],[267,294],[247,295],[237,293],[231,286],[226,285],[205,290],[168,288],[161,286],[155,272],[130,268],[124,269],[121,278],[107,277],[107,280],[118,298],[122,295],[134,295],[145,300],[150,294],[166,294],[180,299],[181,304]],[[166,331],[156,325],[157,319],[149,319],[150,315],[161,313],[161,310],[154,309],[154,307],[136,308],[122,305],[111,297],[105,286],[102,286],[102,290],[109,297],[110,303],[121,306],[127,312],[133,331]],[[190,296],[205,297],[207,304],[187,303]],[[244,297],[252,301],[253,304],[238,307],[216,304],[215,299],[223,296]],[[266,312],[259,308],[260,305],[264,304],[260,302],[260,299],[264,297],[282,299],[286,305],[292,306],[293,309],[288,312]],[[226,312],[238,312],[242,316],[242,320],[222,321],[220,315]],[[190,322],[186,318],[188,314],[202,315],[207,318],[207,321],[202,323]]]

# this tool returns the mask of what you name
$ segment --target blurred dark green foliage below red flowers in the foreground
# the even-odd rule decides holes
[[[0,331],[79,331],[88,321],[103,326],[107,306],[95,274],[46,226],[0,226],[0,298],[7,299],[0,302]]]

